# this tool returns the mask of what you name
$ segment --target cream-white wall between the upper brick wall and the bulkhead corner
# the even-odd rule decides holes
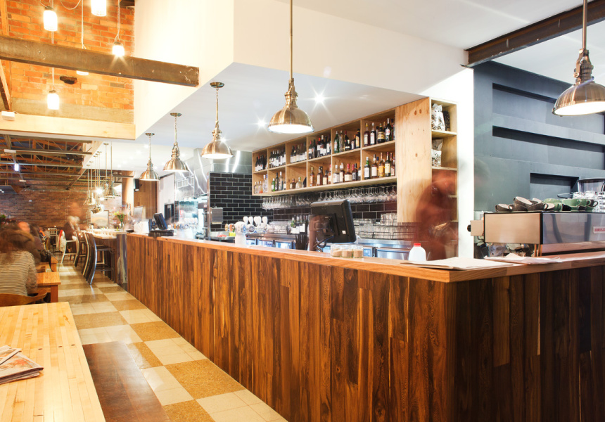
[[[134,11],[134,56],[200,68],[200,86],[233,61],[233,0],[144,0]],[[136,137],[199,87],[134,80]]]

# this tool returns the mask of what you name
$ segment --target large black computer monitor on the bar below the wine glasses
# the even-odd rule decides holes
[[[309,236],[315,238],[313,243],[316,246],[327,242],[351,243],[357,240],[349,200],[312,203],[311,214]],[[310,245],[313,243],[310,242]]]

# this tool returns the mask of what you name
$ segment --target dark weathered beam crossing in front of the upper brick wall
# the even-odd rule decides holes
[[[197,87],[200,83],[200,70],[193,66],[132,56],[117,58],[109,53],[13,37],[0,36],[0,59],[186,87]]]

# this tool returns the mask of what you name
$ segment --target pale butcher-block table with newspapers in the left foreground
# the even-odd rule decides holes
[[[0,385],[0,421],[105,421],[68,302],[0,307],[0,345],[44,366]]]

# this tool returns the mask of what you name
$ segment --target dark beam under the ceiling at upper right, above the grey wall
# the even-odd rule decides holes
[[[588,24],[605,20],[605,0],[593,0],[588,4]],[[469,66],[493,60],[505,54],[540,44],[543,41],[559,37],[582,27],[582,6],[551,16],[540,22],[532,23],[508,34],[471,47]],[[580,45],[578,45],[580,49]]]

